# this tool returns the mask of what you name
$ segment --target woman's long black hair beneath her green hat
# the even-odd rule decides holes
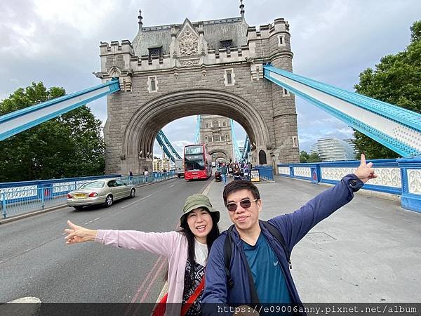
[[[204,208],[204,210],[208,211],[208,209]],[[210,213],[208,211],[208,213]],[[215,221],[215,216],[213,213],[210,213],[210,217],[212,218],[212,229],[210,230],[209,234],[206,236],[206,244],[208,245],[208,253],[210,251],[210,247],[212,246],[215,239],[217,239],[220,235],[220,230],[218,228],[218,224]],[[192,230],[189,228],[189,224],[187,220],[185,220],[184,225],[181,225],[181,229],[179,232],[182,232],[185,237],[187,238],[187,257],[189,258],[190,263],[192,263],[192,270],[190,270],[190,275],[187,280],[187,284],[185,283],[185,287],[193,287],[194,281],[194,269],[196,268],[196,263],[194,262],[194,234]],[[166,279],[168,279],[168,271],[165,274]]]

